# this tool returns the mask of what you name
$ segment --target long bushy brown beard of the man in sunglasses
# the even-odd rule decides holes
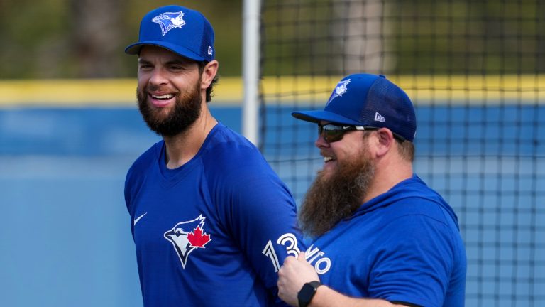
[[[360,208],[375,174],[367,151],[358,160],[339,163],[331,176],[319,171],[305,195],[299,223],[305,235],[319,237]]]

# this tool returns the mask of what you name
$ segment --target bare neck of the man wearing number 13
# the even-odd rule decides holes
[[[178,168],[191,160],[199,152],[204,140],[217,123],[203,100],[201,116],[186,131],[175,136],[163,137],[167,168]]]

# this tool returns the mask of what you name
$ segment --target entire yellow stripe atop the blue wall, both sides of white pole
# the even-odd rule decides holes
[[[545,103],[545,75],[388,77],[416,104],[475,102],[478,104]],[[338,77],[263,77],[265,99],[272,103],[326,101]],[[0,81],[0,107],[65,106],[116,107],[136,104],[135,79],[4,80]],[[240,105],[240,77],[221,77],[214,89],[214,104]]]

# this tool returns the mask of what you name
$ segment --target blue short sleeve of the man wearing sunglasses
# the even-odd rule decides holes
[[[377,237],[381,248],[371,269],[370,296],[442,306],[456,254],[451,228],[426,215],[406,215]]]

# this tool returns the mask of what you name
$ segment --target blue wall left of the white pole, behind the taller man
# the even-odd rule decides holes
[[[0,109],[0,306],[142,306],[123,184],[158,140],[136,107]]]

